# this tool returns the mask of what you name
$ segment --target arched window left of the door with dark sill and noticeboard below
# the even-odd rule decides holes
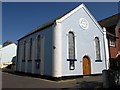
[[[73,32],[69,32],[68,34],[68,58],[67,61],[69,61],[69,69],[74,70],[75,69],[75,36]]]

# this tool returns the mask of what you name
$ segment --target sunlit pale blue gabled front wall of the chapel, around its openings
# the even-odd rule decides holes
[[[91,61],[91,74],[101,74],[103,69],[106,69],[106,58],[105,58],[105,45],[104,45],[104,34],[102,28],[98,25],[91,14],[85,9],[80,8],[73,14],[69,14],[64,20],[58,20],[61,23],[61,75],[62,76],[73,76],[83,75],[82,59],[85,55],[90,58]],[[89,28],[84,30],[79,25],[80,18],[85,18],[89,22]],[[58,30],[59,31],[59,30]],[[75,34],[75,48],[76,48],[76,59],[75,70],[69,69],[68,59],[68,32],[72,31]],[[57,33],[59,34],[59,33]],[[101,60],[102,62],[95,62],[95,37],[99,37]],[[57,42],[57,40],[56,40]],[[56,46],[57,47],[57,46]],[[56,54],[57,55],[57,54]],[[57,57],[57,56],[56,56]],[[57,62],[56,59],[54,61]],[[57,64],[58,65],[58,64]],[[58,65],[59,66],[59,65]],[[57,67],[58,67],[57,66]],[[59,70],[59,69],[58,69]]]

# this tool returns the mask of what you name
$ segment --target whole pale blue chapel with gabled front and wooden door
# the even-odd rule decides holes
[[[102,74],[108,53],[106,31],[81,4],[18,40],[16,70],[55,78]]]

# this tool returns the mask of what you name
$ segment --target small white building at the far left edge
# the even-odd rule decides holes
[[[17,45],[15,43],[11,43],[0,48],[0,68],[4,68],[12,64],[12,59],[16,56],[16,51]]]

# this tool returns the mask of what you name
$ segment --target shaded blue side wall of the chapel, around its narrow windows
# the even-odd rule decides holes
[[[36,44],[38,35],[41,36],[41,63],[40,69],[37,70],[35,66],[35,60],[37,59]],[[28,66],[30,38],[32,38],[32,64],[29,64]],[[25,64],[22,62],[24,41],[27,41]],[[52,26],[19,40],[17,71],[48,76],[52,75]]]

